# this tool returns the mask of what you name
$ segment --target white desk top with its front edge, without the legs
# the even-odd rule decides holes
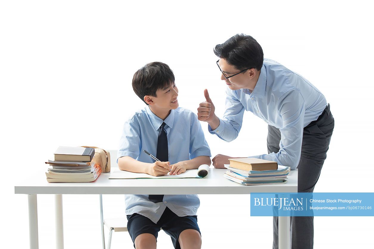
[[[36,171],[15,186],[16,194],[250,194],[251,192],[297,192],[297,170],[285,184],[244,186],[224,178],[227,169],[209,169],[205,178],[108,179],[99,175],[91,183],[48,183],[43,171]]]

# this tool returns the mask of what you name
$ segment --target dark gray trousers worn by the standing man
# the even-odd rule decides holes
[[[334,117],[328,105],[316,121],[304,128],[298,169],[298,192],[313,192],[326,159]],[[267,134],[268,153],[279,152],[281,132],[269,125]],[[313,249],[313,217],[290,217],[291,248]],[[278,249],[278,217],[273,217],[273,249]]]

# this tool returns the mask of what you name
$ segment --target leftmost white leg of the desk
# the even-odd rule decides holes
[[[38,236],[38,205],[36,194],[28,194],[28,229],[30,235],[30,249],[39,248]]]

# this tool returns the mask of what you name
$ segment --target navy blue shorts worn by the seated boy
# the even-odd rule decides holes
[[[132,242],[134,242],[134,248],[135,238],[138,235],[142,233],[150,233],[153,234],[154,237],[156,237],[157,241],[157,235],[161,228],[165,231],[165,233],[170,235],[171,241],[173,242],[174,248],[176,249],[181,248],[178,242],[178,238],[181,232],[186,229],[194,229],[200,233],[199,226],[197,225],[196,215],[179,217],[178,215],[174,214],[174,212],[172,212],[168,207],[166,207],[165,211],[161,215],[160,220],[157,223],[153,223],[149,218],[136,213],[126,216],[128,220],[127,229],[129,230]]]

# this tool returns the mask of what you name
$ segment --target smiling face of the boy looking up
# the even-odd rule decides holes
[[[179,106],[178,103],[178,88],[175,83],[172,83],[168,87],[164,89],[159,89],[156,91],[157,97],[151,97],[153,103],[153,108],[157,108],[159,110],[172,110],[177,109]],[[151,104],[150,104],[151,105]]]

